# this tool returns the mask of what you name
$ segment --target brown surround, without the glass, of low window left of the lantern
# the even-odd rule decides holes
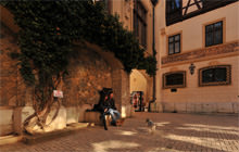
[[[166,76],[172,74],[183,74],[184,81],[183,85],[166,85]],[[186,88],[187,86],[187,72],[186,71],[177,71],[177,72],[168,72],[163,74],[163,89],[176,89],[176,88]]]

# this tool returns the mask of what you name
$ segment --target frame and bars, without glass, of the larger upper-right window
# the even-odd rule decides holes
[[[218,43],[216,43],[215,42],[215,33],[216,31],[218,31],[218,30],[215,30],[215,24],[217,24],[217,23],[222,23],[222,26],[221,26],[221,35],[222,35],[222,37],[221,37],[221,42],[218,42]],[[223,21],[223,20],[221,20],[221,21],[217,21],[217,22],[214,22],[214,23],[211,23],[211,24],[206,24],[206,25],[204,25],[204,47],[205,48],[207,48],[207,47],[212,47],[212,46],[216,46],[216,45],[222,45],[222,43],[224,43],[224,25],[225,24],[225,22]],[[206,38],[206,36],[207,36],[207,34],[210,34],[210,33],[206,33],[206,27],[209,27],[209,26],[213,26],[213,31],[212,31],[212,35],[213,35],[213,42],[212,42],[212,45],[207,45],[206,43],[206,40],[207,40],[207,38]]]

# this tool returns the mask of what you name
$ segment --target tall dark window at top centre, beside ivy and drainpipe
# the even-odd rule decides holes
[[[147,47],[147,11],[140,1],[134,1],[134,34],[142,47]]]

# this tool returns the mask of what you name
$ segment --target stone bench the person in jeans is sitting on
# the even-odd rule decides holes
[[[86,123],[93,123],[96,125],[103,125],[103,122],[100,119],[100,113],[95,111],[86,111],[85,112],[85,121]],[[111,116],[105,115],[106,125],[111,124]]]

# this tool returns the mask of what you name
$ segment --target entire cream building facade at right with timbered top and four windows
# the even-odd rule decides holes
[[[239,112],[238,1],[156,5],[158,111]]]

